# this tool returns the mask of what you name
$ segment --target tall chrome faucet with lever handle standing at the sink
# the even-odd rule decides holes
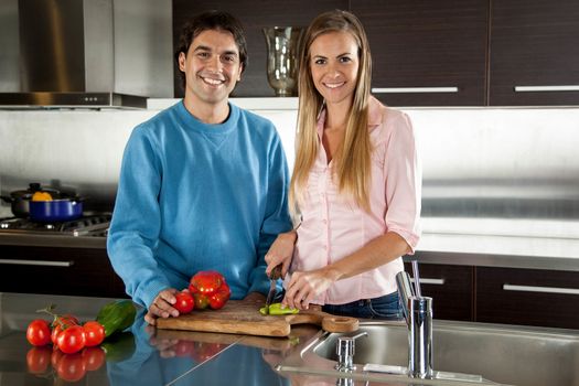
[[[396,275],[396,285],[408,325],[408,375],[412,378],[432,378],[432,298],[422,297],[418,264],[412,261],[415,288],[410,276]]]

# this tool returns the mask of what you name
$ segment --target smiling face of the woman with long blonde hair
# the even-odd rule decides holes
[[[329,32],[310,45],[313,84],[326,104],[351,104],[357,81],[358,46],[349,32]]]

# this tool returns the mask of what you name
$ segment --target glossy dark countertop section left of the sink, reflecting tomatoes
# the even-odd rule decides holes
[[[61,365],[55,367],[51,365],[51,346],[35,349],[25,339],[28,324],[43,318],[35,310],[50,303],[57,304],[61,313],[69,312],[88,321],[109,301],[0,292],[0,385],[61,385],[75,378],[75,385],[90,386],[336,384],[332,377],[285,377],[274,369],[319,331],[313,325],[296,326],[289,337],[162,331],[147,326],[142,313],[138,313],[131,334],[124,333],[108,344],[106,362],[83,364],[82,355],[72,354],[65,357],[66,362],[61,358]]]

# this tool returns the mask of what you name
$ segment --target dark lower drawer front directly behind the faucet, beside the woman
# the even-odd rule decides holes
[[[405,269],[412,276],[409,262]],[[419,270],[420,289],[432,298],[435,319],[473,320],[473,267],[419,264]]]

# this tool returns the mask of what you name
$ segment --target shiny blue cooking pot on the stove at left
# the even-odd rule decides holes
[[[82,216],[83,202],[78,197],[30,202],[30,219],[35,222],[65,222]]]

